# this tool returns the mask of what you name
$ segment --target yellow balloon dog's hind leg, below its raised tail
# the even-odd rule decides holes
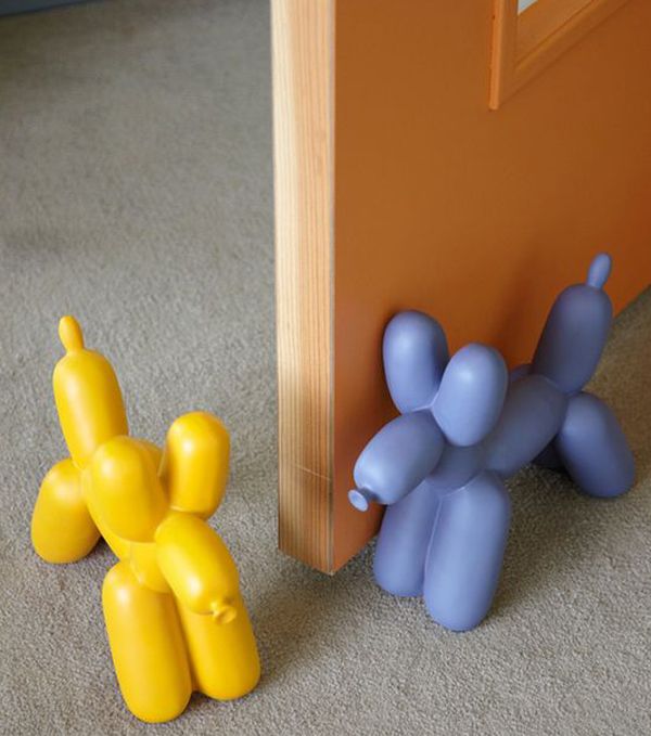
[[[76,563],[99,539],[81,493],[81,472],[72,460],[62,460],[38,492],[31,516],[34,548],[48,563]]]

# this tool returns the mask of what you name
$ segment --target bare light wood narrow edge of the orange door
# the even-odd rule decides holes
[[[272,0],[279,546],[332,571],[334,0]]]

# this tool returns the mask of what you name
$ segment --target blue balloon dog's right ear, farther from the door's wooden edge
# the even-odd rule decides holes
[[[447,440],[476,444],[495,426],[505,403],[509,373],[497,350],[471,343],[452,356],[432,413]]]

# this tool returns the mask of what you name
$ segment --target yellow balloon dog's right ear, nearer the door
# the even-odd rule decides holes
[[[228,481],[230,438],[207,412],[179,416],[167,432],[161,475],[175,511],[208,518]]]

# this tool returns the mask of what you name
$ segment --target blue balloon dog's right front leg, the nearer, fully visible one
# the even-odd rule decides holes
[[[496,473],[442,499],[425,561],[424,597],[435,621],[455,631],[481,623],[499,581],[510,517]]]

